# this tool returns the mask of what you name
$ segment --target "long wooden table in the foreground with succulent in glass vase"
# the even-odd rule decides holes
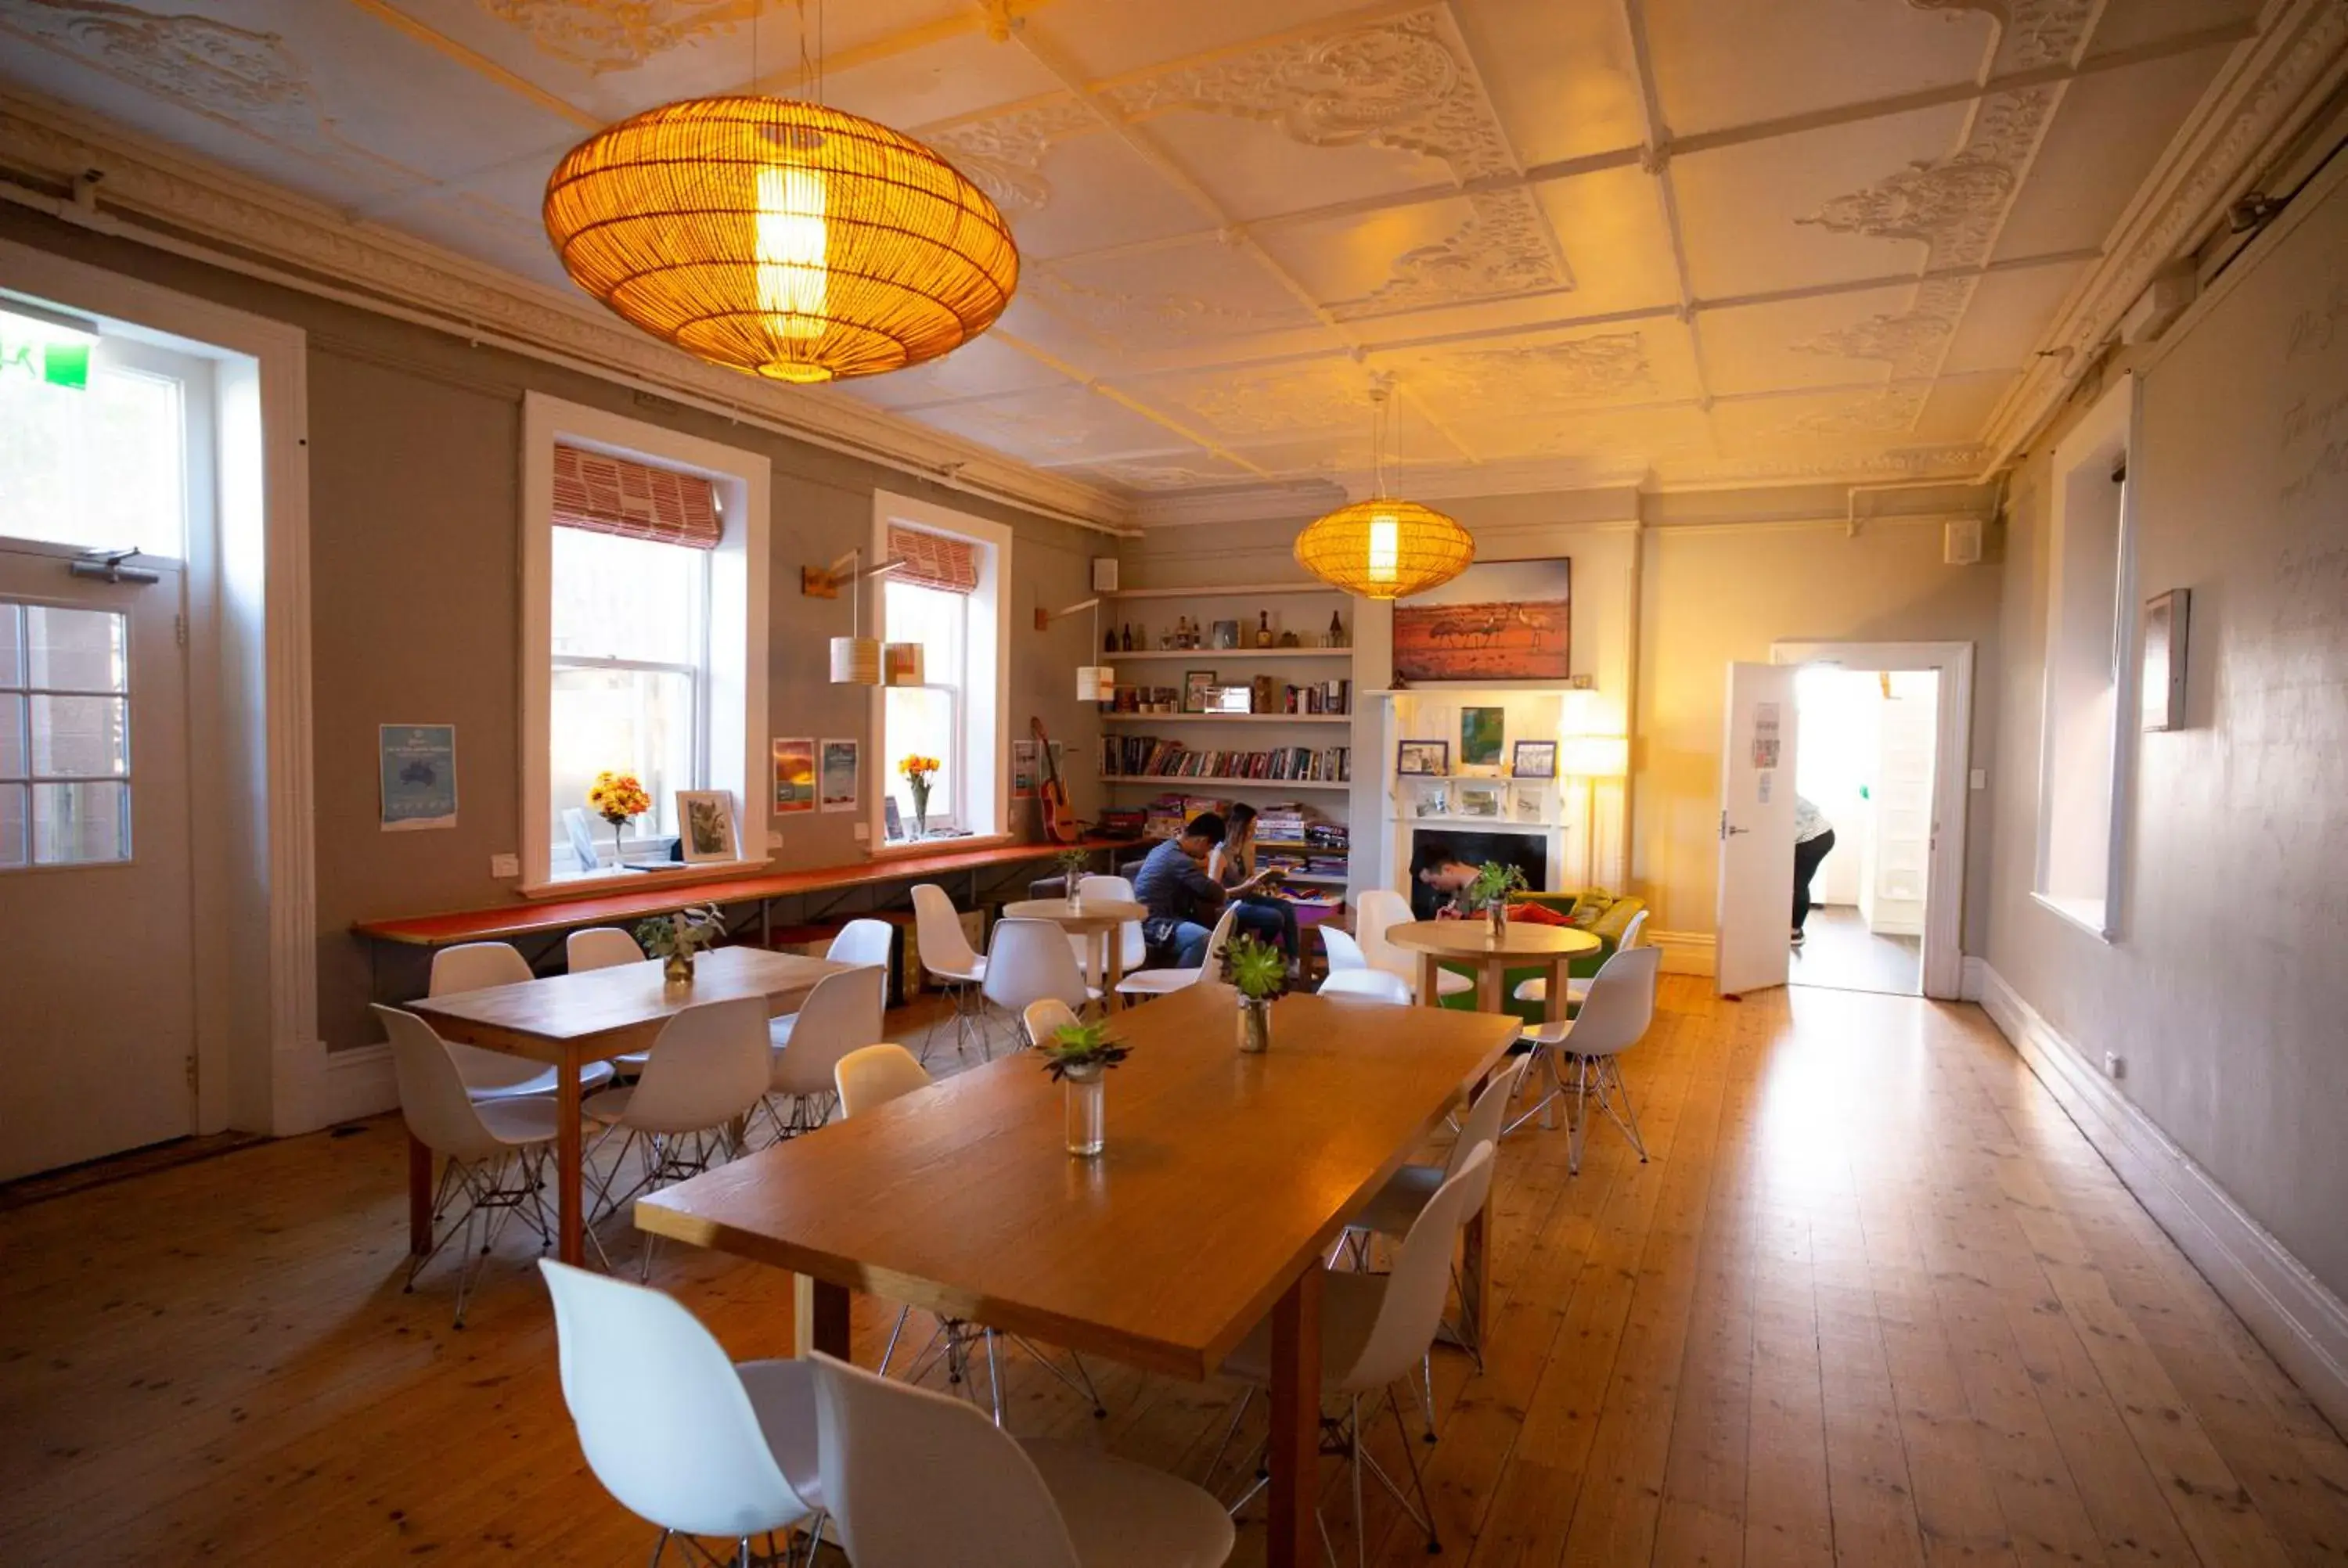
[[[1118,1014],[1097,1157],[1021,1052],[641,1197],[636,1225],[810,1277],[794,1345],[843,1359],[850,1291],[1190,1380],[1270,1314],[1270,1561],[1308,1563],[1322,1261],[1519,1026],[1291,995],[1247,1056],[1235,1009],[1200,984]],[[1463,1289],[1486,1275],[1477,1218]]]

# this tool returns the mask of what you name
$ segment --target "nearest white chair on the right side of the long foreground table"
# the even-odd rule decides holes
[[[1482,1209],[1491,1192],[1491,1160],[1493,1145],[1477,1145],[1460,1162],[1460,1169],[1435,1190],[1435,1197],[1411,1221],[1409,1235],[1402,1237],[1402,1246],[1395,1253],[1395,1272],[1334,1272],[1322,1282],[1322,1453],[1350,1460],[1352,1535],[1359,1563],[1369,1563],[1369,1542],[1362,1535],[1364,1472],[1388,1491],[1411,1523],[1425,1530],[1428,1552],[1442,1552],[1442,1537],[1435,1530],[1435,1509],[1428,1505],[1428,1481],[1418,1469],[1418,1446],[1402,1420],[1402,1399],[1395,1394],[1395,1385],[1406,1383],[1423,1366],[1428,1347],[1435,1343],[1444,1314],[1444,1293],[1451,1286],[1451,1256],[1458,1251],[1460,1228],[1468,1223],[1468,1216]],[[1256,1390],[1270,1387],[1270,1319],[1256,1324],[1240,1340],[1240,1347],[1223,1361],[1223,1376],[1247,1383],[1247,1392],[1240,1397],[1237,1408],[1233,1408],[1230,1425],[1223,1430],[1223,1444],[1216,1446],[1214,1462],[1207,1467],[1209,1483]],[[1402,1458],[1411,1469],[1411,1488],[1418,1493],[1416,1505],[1362,1446],[1364,1394],[1371,1399],[1371,1415],[1376,1415],[1378,1394],[1385,1394],[1385,1408],[1392,1413],[1395,1432],[1402,1437]],[[1338,1415],[1329,1415],[1331,1404],[1341,1408]],[[1230,1512],[1237,1514],[1247,1507],[1268,1481],[1270,1476],[1259,1465],[1256,1481],[1230,1505]],[[1305,1486],[1305,1495],[1317,1493],[1317,1486]],[[1329,1552],[1331,1561],[1336,1559],[1327,1521],[1322,1521],[1322,1549]]]

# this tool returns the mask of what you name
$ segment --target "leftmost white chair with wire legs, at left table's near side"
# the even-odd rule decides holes
[[[552,1099],[526,1094],[474,1101],[456,1070],[448,1042],[430,1023],[402,1007],[376,1007],[392,1040],[392,1073],[399,1080],[399,1115],[416,1141],[441,1157],[432,1192],[432,1246],[409,1258],[409,1279],[463,1235],[456,1275],[456,1326],[465,1326],[465,1300],[507,1216],[538,1232],[538,1246],[554,1244],[545,1204],[545,1164],[561,1129]],[[463,1204],[456,1216],[451,1209]],[[474,1246],[479,1230],[479,1249]]]

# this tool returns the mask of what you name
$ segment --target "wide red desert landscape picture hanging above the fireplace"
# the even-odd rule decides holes
[[[1484,561],[1395,606],[1395,685],[1573,674],[1573,561]]]

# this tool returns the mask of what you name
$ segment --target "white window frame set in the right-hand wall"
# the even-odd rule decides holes
[[[2083,418],[2071,434],[2054,446],[2047,495],[2045,636],[2038,650],[2043,678],[2038,695],[2038,845],[2036,861],[2031,866],[2031,899],[2040,908],[2052,911],[2099,941],[2113,941],[2120,934],[2120,873],[2127,845],[2127,784],[2130,761],[2134,756],[2132,721],[2137,714],[2139,683],[2134,603],[2137,495],[2144,488],[2137,481],[2137,432],[2141,430],[2141,413],[2144,387],[2139,378],[2134,373],[2120,376],[2120,380],[2097,399],[2094,408],[2087,411],[2087,418]],[[2109,481],[2116,467],[2127,467],[2127,481],[2120,484],[2118,554],[2113,563],[2111,596],[2111,777],[2106,784],[2111,817],[2104,843],[2104,897],[2080,899],[2050,887],[2054,847],[2054,730],[2059,723],[2054,685],[2064,606],[2064,535],[2071,523],[2071,481],[2076,477]]]

